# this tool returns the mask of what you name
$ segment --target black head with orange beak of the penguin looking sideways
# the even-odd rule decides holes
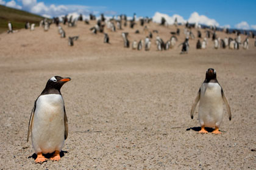
[[[69,77],[62,78],[60,76],[54,76],[47,81],[45,89],[60,90],[60,88],[63,86],[63,84],[65,84],[66,82],[68,82],[70,80],[71,80],[71,78],[69,78]]]

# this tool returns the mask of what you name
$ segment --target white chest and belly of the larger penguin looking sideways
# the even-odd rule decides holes
[[[35,152],[61,151],[64,144],[64,101],[62,95],[38,97],[32,123],[32,144]]]

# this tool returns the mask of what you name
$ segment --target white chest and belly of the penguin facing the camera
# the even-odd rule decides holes
[[[206,127],[221,124],[223,117],[223,102],[221,86],[218,83],[203,83],[199,103],[199,123]]]

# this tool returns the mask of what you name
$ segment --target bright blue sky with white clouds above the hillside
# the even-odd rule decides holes
[[[132,16],[155,15],[155,12],[169,16],[180,15],[188,20],[192,13],[197,12],[200,16],[215,19],[220,26],[229,25],[244,29],[256,29],[256,1],[57,1],[57,0],[0,0],[0,4],[40,15],[57,16],[69,12],[80,12],[87,15],[90,12],[95,14],[105,13],[108,15],[119,15],[125,13]],[[78,7],[79,6],[79,7]]]

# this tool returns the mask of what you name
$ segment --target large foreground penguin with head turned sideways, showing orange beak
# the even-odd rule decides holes
[[[31,131],[32,145],[37,154],[35,163],[43,163],[43,154],[53,153],[51,160],[60,160],[60,151],[68,137],[68,118],[60,88],[71,78],[52,77],[32,109],[27,141]]]

